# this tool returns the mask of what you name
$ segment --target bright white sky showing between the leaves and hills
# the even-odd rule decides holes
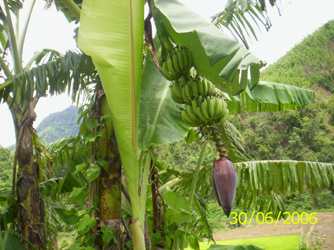
[[[29,3],[31,0],[26,0]],[[183,0],[193,11],[210,20],[224,8],[226,0]],[[280,0],[281,15],[276,9],[271,10],[272,28],[262,31],[258,41],[251,43],[252,52],[268,64],[275,62],[307,35],[314,32],[327,21],[334,19],[333,0]],[[37,1],[31,25],[28,30],[25,60],[43,48],[52,48],[60,52],[76,49],[73,37],[73,24],[55,10],[44,8],[44,1]],[[23,13],[24,14],[24,13]],[[59,112],[71,105],[64,94],[42,98],[37,107],[35,127],[49,114]],[[7,147],[15,143],[14,128],[9,110],[0,104],[0,145]]]

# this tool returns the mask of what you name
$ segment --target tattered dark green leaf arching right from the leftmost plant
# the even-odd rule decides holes
[[[6,100],[8,95],[12,95],[14,100],[24,100],[27,96],[39,98],[66,90],[73,100],[78,100],[89,84],[97,82],[97,73],[90,57],[71,51],[62,57],[55,53],[45,53],[37,58],[35,64],[46,56],[49,57],[46,63],[25,69],[10,79],[11,84],[7,82],[7,87],[0,89],[0,101]]]

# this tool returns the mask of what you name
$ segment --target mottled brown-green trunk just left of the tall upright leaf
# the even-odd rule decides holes
[[[111,119],[105,117],[109,114],[108,105],[102,87],[97,89],[95,115],[100,121],[96,143],[96,160],[103,160],[106,164],[102,168],[98,179],[98,212],[99,229],[97,232],[96,247],[103,250],[122,249],[121,240],[121,160]],[[105,243],[102,240],[103,229],[113,232],[114,240]]]

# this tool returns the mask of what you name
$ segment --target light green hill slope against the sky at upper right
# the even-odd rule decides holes
[[[334,92],[334,20],[269,66],[263,78]]]

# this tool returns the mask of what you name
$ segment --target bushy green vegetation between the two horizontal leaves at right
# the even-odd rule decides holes
[[[240,116],[238,124],[249,152],[256,158],[332,162],[333,108],[331,103],[317,103],[284,114]]]

